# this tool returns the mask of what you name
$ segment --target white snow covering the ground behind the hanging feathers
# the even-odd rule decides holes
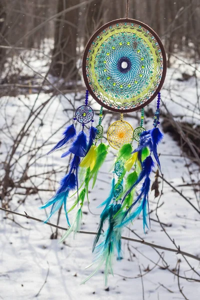
[[[195,123],[197,123],[199,114],[193,111],[196,94],[194,78],[190,78],[190,81],[187,83],[179,82],[174,78],[175,72],[175,69],[172,68],[167,71],[162,99],[167,103],[168,109],[173,114],[179,115],[176,116],[177,118],[183,116],[185,119],[195,120]],[[169,81],[171,81],[170,91],[168,88]],[[188,102],[182,103],[180,96],[184,96]],[[0,99],[0,128],[3,128],[0,146],[1,162],[6,159],[6,152],[10,152],[10,146],[12,145],[11,136],[15,137],[16,132],[26,121],[30,107],[34,103],[35,107],[39,107],[39,105],[48,101],[39,117],[30,125],[27,134],[23,137],[13,157],[13,161],[14,159],[17,160],[12,170],[13,178],[16,181],[20,178],[20,174],[27,162],[29,162],[27,174],[28,176],[32,175],[32,177],[12,191],[12,210],[16,209],[20,213],[25,211],[28,215],[45,219],[45,212],[39,210],[38,206],[52,196],[53,190],[65,173],[68,163],[67,158],[60,158],[63,150],[58,150],[49,156],[45,156],[45,153],[59,139],[68,117],[72,117],[71,112],[66,112],[64,109],[69,107],[70,102],[75,107],[79,106],[79,101],[74,100],[74,97],[78,98],[80,94],[66,94],[67,99],[63,96],[51,97],[51,94],[46,93],[40,93],[38,98],[36,94],[30,94],[28,96],[19,95],[15,98],[2,97]],[[170,97],[173,98],[173,102],[169,100]],[[93,108],[99,109],[98,104],[94,103],[94,101],[92,103]],[[187,105],[192,111],[188,110]],[[154,109],[155,101],[151,104],[151,107]],[[6,129],[5,126],[5,116],[9,129]],[[110,121],[110,117],[111,114],[107,113],[102,121],[104,132],[106,132],[106,126]],[[124,118],[133,126],[137,125],[136,119],[126,115]],[[33,120],[33,116],[27,122],[26,127],[28,127],[31,120]],[[96,116],[94,124],[97,124],[97,121]],[[145,121],[145,127],[150,128],[152,120],[146,119]],[[38,151],[34,150],[36,147],[38,147]],[[28,150],[31,150],[31,153],[35,153],[35,157],[32,157]],[[160,152],[160,163],[164,178],[181,191],[193,205],[198,207],[192,187],[186,185],[187,182],[191,182],[191,178],[195,181],[198,180],[197,166],[190,163],[190,166],[187,168],[188,159],[181,156],[176,141],[172,140],[168,134],[165,134],[163,142],[159,145],[158,152]],[[25,154],[21,155],[21,153]],[[91,213],[88,211],[86,201],[84,203],[81,230],[96,231],[97,229],[100,209],[96,207],[109,193],[112,174],[108,171],[113,163],[113,153],[115,151],[111,150],[105,165],[101,168],[95,188],[93,190],[90,189],[89,210]],[[56,176],[52,172],[53,170],[56,170]],[[193,172],[192,175],[189,174],[190,171]],[[2,176],[2,169],[0,172]],[[47,175],[38,175],[44,172],[49,172],[52,181],[49,180]],[[184,183],[185,186],[180,186]],[[18,200],[22,200],[25,197],[23,187],[27,186],[36,186],[40,190],[36,194],[27,195],[24,203],[18,203]],[[43,189],[46,189],[46,191]],[[160,189],[161,182],[159,184]],[[199,199],[199,191],[197,191],[197,197]],[[73,200],[74,198],[69,198],[68,207],[73,203]],[[163,195],[159,204],[162,202],[163,204],[158,208],[157,212],[161,222],[171,223],[171,226],[164,227],[166,232],[175,240],[175,243],[180,246],[181,250],[199,256],[199,214],[181,195],[174,192],[166,182],[163,183]],[[154,199],[153,192],[150,193],[149,204],[150,209],[156,208],[157,198]],[[69,213],[70,219],[73,219],[74,214],[75,212]],[[10,214],[8,216],[11,218]],[[155,212],[152,212],[150,216],[156,219]],[[14,220],[15,222],[5,218],[5,213],[0,211],[1,299],[35,298],[48,273],[46,283],[38,296],[36,296],[40,300],[74,300],[79,298],[93,300],[104,299],[105,297],[110,300],[139,300],[142,299],[142,282],[139,276],[139,266],[142,274],[146,272],[147,267],[149,269],[154,267],[142,277],[145,300],[183,299],[178,289],[177,276],[162,268],[163,264],[159,255],[147,245],[122,241],[124,259],[113,261],[114,277],[109,275],[109,290],[105,290],[102,274],[103,268],[85,284],[79,285],[94,269],[94,266],[84,269],[92,262],[91,246],[93,235],[79,233],[75,235],[75,239],[73,239],[73,236],[70,236],[62,244],[58,243],[58,239],[50,239],[50,235],[52,232],[55,232],[55,228],[17,215],[14,215]],[[57,215],[51,219],[52,223],[56,223],[56,221]],[[61,213],[59,225],[67,226],[63,212]],[[147,242],[174,248],[173,243],[155,221],[151,221],[151,229],[146,234],[143,233],[141,218],[135,220],[130,225],[130,228]],[[58,230],[58,232],[60,237],[63,231]],[[123,230],[123,236],[139,239],[127,228]],[[128,251],[127,245],[129,245],[132,253]],[[167,261],[170,270],[175,267],[177,269],[177,259],[180,259],[180,275],[198,278],[180,254],[157,250],[160,254],[162,253],[161,255]],[[191,263],[191,266],[200,272],[199,263],[189,257],[186,258]],[[199,299],[200,286],[198,282],[186,281],[180,278],[180,286],[184,286],[183,292],[189,300]]]

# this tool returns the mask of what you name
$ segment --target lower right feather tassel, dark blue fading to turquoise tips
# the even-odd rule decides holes
[[[137,180],[132,184],[132,186],[128,189],[128,191],[125,193],[125,195],[123,197],[122,202],[125,200],[126,196],[131,192],[131,190],[142,179],[144,179],[139,195],[137,196],[136,200],[130,205],[130,207],[125,211],[124,216],[123,216],[123,221],[121,222],[120,226],[123,226],[123,225],[127,224],[128,222],[132,221],[142,211],[143,212],[143,229],[145,230],[145,226],[148,228],[146,216],[147,216],[147,210],[148,210],[148,192],[149,192],[149,188],[150,188],[149,175],[150,175],[150,172],[151,172],[153,166],[154,166],[154,163],[153,163],[151,156],[147,156],[146,159],[142,163],[142,170],[141,170]],[[128,212],[130,212],[132,207],[135,204],[137,204],[139,200],[140,200],[140,202],[138,204],[137,209],[133,213],[131,213],[128,218],[125,219]]]

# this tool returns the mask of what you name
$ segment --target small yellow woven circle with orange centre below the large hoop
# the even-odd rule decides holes
[[[115,121],[107,130],[107,140],[114,149],[119,149],[125,143],[132,142],[133,129],[126,121]]]

